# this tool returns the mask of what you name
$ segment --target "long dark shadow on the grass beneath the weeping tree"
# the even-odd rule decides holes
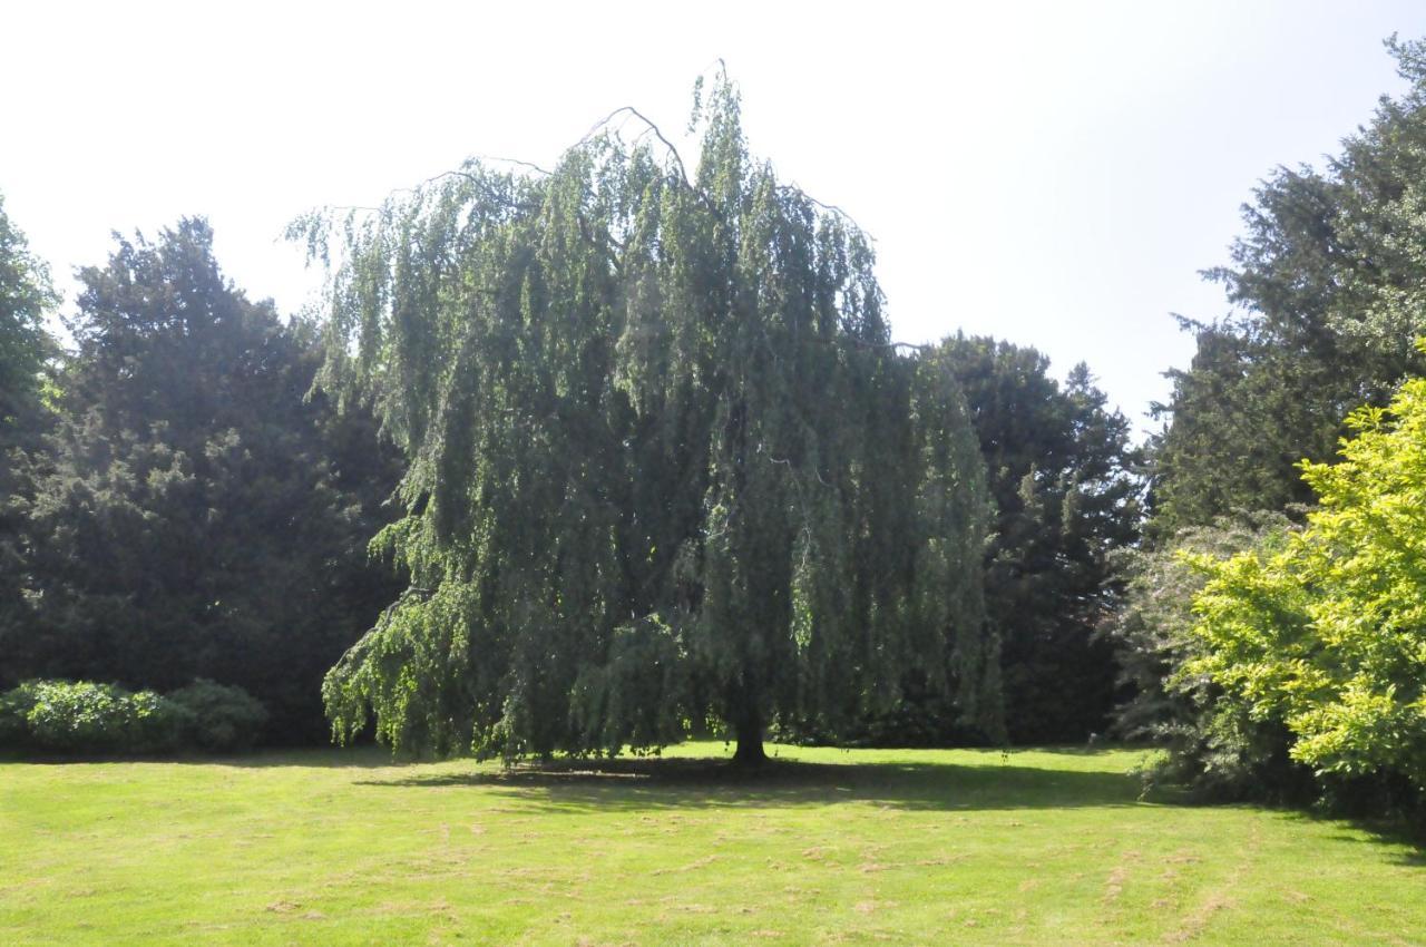
[[[613,759],[431,773],[361,786],[479,787],[549,813],[796,807],[861,802],[891,809],[974,812],[1138,804],[1134,776],[988,763],[807,763],[739,770],[722,760]]]

